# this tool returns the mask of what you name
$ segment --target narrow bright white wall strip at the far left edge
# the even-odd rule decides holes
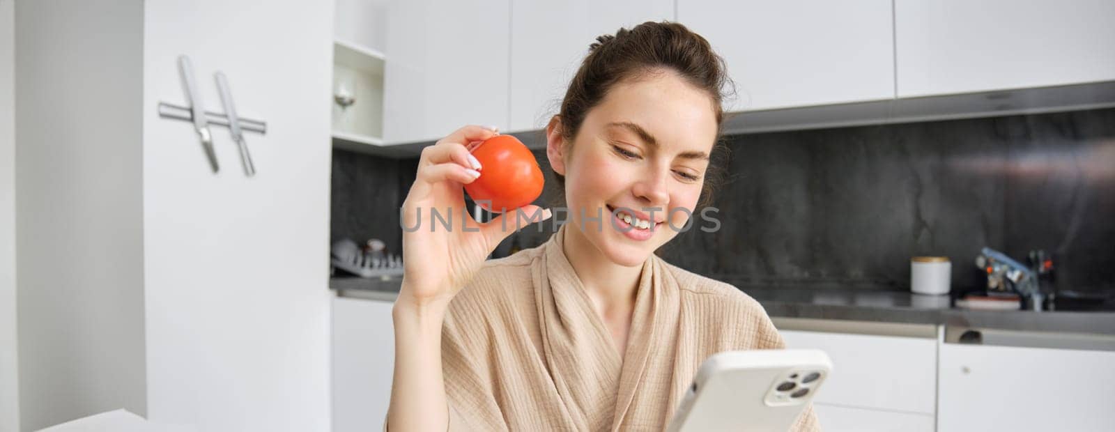
[[[16,29],[0,0],[0,432],[19,430],[16,343]]]

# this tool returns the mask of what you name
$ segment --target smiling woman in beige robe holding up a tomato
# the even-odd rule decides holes
[[[485,261],[510,219],[432,229],[419,216],[459,214],[462,185],[484,173],[469,146],[498,131],[465,127],[423,151],[403,206],[420,229],[404,234],[392,314],[392,431],[661,430],[706,357],[784,346],[753,298],[653,254],[708,193],[723,65],[678,23],[598,38],[546,126],[569,222],[510,257]],[[817,429],[812,409],[795,429]]]

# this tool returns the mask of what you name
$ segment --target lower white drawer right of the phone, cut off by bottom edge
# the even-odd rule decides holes
[[[933,432],[933,415],[867,410],[814,403],[813,411],[825,432]]]

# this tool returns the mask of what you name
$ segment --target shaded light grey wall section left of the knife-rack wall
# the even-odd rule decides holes
[[[14,17],[21,426],[143,415],[143,3]]]

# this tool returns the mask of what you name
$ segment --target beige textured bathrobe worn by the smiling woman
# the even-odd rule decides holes
[[[561,234],[486,262],[450,302],[442,338],[450,431],[663,430],[706,357],[784,346],[758,302],[652,255],[621,359]],[[812,408],[794,426],[818,429]]]

